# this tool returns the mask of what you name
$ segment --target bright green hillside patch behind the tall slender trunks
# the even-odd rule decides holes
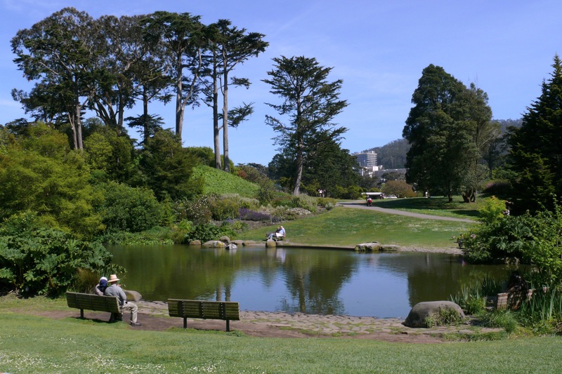
[[[243,197],[256,197],[259,186],[211,166],[200,165],[193,168],[191,178],[203,178],[204,194],[239,194]]]

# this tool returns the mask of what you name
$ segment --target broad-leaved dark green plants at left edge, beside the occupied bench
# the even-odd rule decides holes
[[[0,286],[22,295],[60,295],[79,269],[96,272],[111,257],[100,243],[44,227],[34,213],[13,215],[0,226]]]

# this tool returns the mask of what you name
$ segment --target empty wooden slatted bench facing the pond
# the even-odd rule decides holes
[[[223,319],[227,331],[230,321],[240,321],[240,307],[234,301],[168,299],[168,314],[183,318],[183,328],[188,328],[188,318]]]

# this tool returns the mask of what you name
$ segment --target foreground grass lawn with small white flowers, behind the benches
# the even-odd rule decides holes
[[[445,344],[157,332],[0,310],[6,373],[556,373],[561,338]]]

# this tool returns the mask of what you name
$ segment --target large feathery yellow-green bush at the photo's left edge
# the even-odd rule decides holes
[[[30,125],[18,143],[0,158],[0,218],[37,211],[44,222],[81,237],[103,230],[92,203],[89,168],[71,151],[65,135],[44,125]],[[22,149],[25,147],[25,149]]]

